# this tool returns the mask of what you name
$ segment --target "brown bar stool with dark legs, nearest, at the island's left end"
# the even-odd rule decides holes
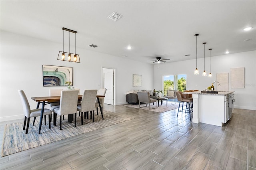
[[[186,98],[186,95],[182,93],[182,91],[177,91],[176,92],[176,95],[177,95],[177,99],[180,103],[182,103],[182,110],[180,110],[180,103],[179,103],[179,108],[178,108],[178,113],[177,113],[177,118],[178,118],[178,114],[179,112],[181,112],[181,115],[184,111],[184,113],[189,113],[189,118],[190,118],[190,121],[191,121],[191,117],[190,117],[190,113],[192,112],[191,111],[191,108],[190,108],[190,103],[193,102],[193,99],[192,98]],[[184,105],[184,102],[186,103],[186,109],[183,109],[183,105]],[[188,111],[187,111],[188,109]]]

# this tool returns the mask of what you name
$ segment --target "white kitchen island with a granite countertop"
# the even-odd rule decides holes
[[[218,93],[186,92],[193,96],[193,123],[207,123],[222,127],[232,116],[233,106],[228,100],[234,91]],[[232,101],[233,102],[233,101]],[[234,103],[234,102],[233,102]]]

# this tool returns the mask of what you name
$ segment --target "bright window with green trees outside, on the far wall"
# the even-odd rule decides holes
[[[164,75],[164,95],[167,95],[168,90],[186,90],[186,74],[180,75]]]

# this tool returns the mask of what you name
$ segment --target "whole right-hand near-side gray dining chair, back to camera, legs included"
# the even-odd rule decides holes
[[[94,107],[95,107],[95,99],[97,95],[97,90],[84,90],[81,105],[77,106],[77,111],[81,112],[81,124],[83,125],[83,113],[84,118],[86,117],[87,113],[87,119],[89,116],[89,111],[91,113],[91,119],[92,122],[94,122]]]

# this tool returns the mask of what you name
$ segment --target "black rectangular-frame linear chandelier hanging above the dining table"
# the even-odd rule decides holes
[[[76,62],[80,63],[80,57],[79,54],[76,54],[76,31],[70,30],[68,28],[62,28],[63,30],[63,51],[59,51],[58,60],[62,61],[70,61],[70,62]],[[64,31],[69,32],[69,52],[64,51]],[[75,34],[75,53],[70,53],[70,32]],[[68,55],[68,58],[65,58],[65,55]]]

